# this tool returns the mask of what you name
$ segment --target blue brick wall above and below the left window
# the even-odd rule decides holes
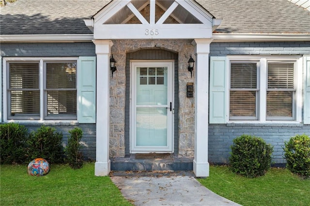
[[[79,57],[96,56],[95,45],[90,43],[1,43],[2,57]],[[0,62],[2,64],[2,62]],[[2,95],[2,89],[1,89]],[[3,98],[2,98],[3,100]],[[2,104],[3,105],[3,104]],[[1,108],[2,111],[3,107]],[[24,124],[29,131],[41,126],[39,123]],[[95,160],[96,155],[96,124],[47,123],[63,133],[63,145],[67,144],[69,130],[80,127],[83,130],[82,153],[86,160]]]

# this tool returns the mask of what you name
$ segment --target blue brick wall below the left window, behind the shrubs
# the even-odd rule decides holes
[[[41,127],[40,123],[21,123],[28,128],[28,131],[36,131]],[[83,137],[81,139],[82,154],[85,160],[94,161],[96,159],[96,124],[78,124],[73,122],[62,123],[45,123],[44,125],[50,126],[56,129],[57,132],[62,132],[63,139],[62,145],[65,147],[70,137],[69,131],[75,127],[79,127],[83,131]]]

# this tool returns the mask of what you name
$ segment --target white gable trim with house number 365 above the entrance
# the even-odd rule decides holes
[[[112,1],[94,15],[93,20],[84,19],[86,26],[91,30],[93,29],[94,39],[211,38],[212,29],[215,29],[218,26],[217,24],[220,23],[219,21],[213,21],[215,17],[194,0],[174,0],[157,22],[155,22],[155,0],[150,3],[150,21],[147,21],[140,13],[142,7],[136,8],[132,2],[132,0]],[[173,11],[178,6],[193,15],[200,23],[186,23],[184,20],[181,24],[164,24],[165,20],[172,15]],[[128,9],[136,18],[138,18],[141,24],[126,24],[124,22],[124,19],[122,18],[126,18],[127,20],[128,16],[119,16],[118,13],[122,10],[127,11]],[[129,14],[129,11],[127,12]],[[118,20],[113,19],[113,16],[115,15],[118,15]],[[123,23],[120,23],[121,21],[123,21]]]

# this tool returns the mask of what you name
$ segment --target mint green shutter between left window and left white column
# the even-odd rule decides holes
[[[78,58],[78,122],[96,122],[96,57]]]

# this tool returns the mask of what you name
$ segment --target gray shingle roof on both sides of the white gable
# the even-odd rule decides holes
[[[196,0],[221,33],[310,33],[310,12],[288,0]],[[110,0],[18,0],[1,7],[0,34],[89,34],[83,19]]]

